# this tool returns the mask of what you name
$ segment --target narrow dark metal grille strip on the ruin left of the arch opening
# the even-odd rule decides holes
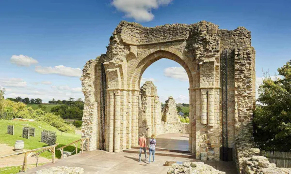
[[[105,150],[105,105],[106,104],[106,74],[103,63],[101,63],[101,79],[100,79],[100,130],[99,130],[99,146],[101,150]]]

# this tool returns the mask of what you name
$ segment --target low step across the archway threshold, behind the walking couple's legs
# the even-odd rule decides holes
[[[123,152],[127,152],[127,153],[139,153],[139,149],[135,149],[135,148],[131,148],[131,149],[126,149],[123,150]],[[144,152],[143,152],[144,154]],[[146,150],[146,154],[149,154],[149,151]],[[195,156],[189,154],[189,153],[177,153],[177,152],[169,152],[169,151],[155,151],[155,155],[159,155],[159,156],[168,156],[168,157],[181,157],[181,158],[191,158],[194,159]]]

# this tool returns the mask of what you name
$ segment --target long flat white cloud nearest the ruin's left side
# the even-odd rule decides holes
[[[80,68],[65,67],[64,65],[55,67],[36,66],[35,71],[42,74],[58,74],[69,77],[81,77],[82,75],[82,70]]]

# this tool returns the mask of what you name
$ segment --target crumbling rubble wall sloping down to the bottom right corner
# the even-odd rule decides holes
[[[239,174],[291,174],[291,169],[277,168],[266,157],[259,156],[252,123],[246,125],[236,138],[235,160]]]

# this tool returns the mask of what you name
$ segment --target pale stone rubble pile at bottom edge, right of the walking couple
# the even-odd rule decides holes
[[[226,174],[214,169],[203,162],[183,162],[183,164],[173,164],[168,170],[168,174]]]

